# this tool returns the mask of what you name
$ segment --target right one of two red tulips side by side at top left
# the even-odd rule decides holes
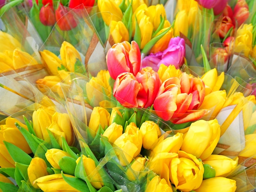
[[[73,13],[62,4],[59,4],[58,9],[55,11],[55,18],[58,27],[63,31],[69,31],[77,26]]]

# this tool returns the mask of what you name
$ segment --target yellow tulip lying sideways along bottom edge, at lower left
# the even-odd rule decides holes
[[[64,174],[67,177],[74,177],[72,175]],[[80,192],[79,190],[73,188],[69,185],[63,178],[61,174],[52,174],[47,176],[42,176],[34,181],[38,187],[43,191],[56,192],[56,191],[66,191],[66,192]]]

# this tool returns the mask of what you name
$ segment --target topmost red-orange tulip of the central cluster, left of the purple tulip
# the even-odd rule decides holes
[[[140,69],[141,55],[137,42],[128,41],[116,43],[108,50],[107,66],[110,76],[116,79],[123,72],[130,72],[134,76]]]

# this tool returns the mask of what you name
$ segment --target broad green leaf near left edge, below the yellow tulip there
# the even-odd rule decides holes
[[[30,161],[32,160],[32,157],[29,156],[27,153],[22,151],[19,147],[16,147],[16,145],[13,145],[12,143],[8,143],[4,141],[4,145],[6,146],[9,154],[11,155],[11,158],[13,161],[22,163],[25,165],[29,165]]]

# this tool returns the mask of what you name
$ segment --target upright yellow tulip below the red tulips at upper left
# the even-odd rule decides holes
[[[67,70],[71,72],[74,72],[76,60],[78,59],[82,61],[81,56],[76,48],[66,41],[64,41],[61,45],[60,55],[64,67],[66,67]]]

